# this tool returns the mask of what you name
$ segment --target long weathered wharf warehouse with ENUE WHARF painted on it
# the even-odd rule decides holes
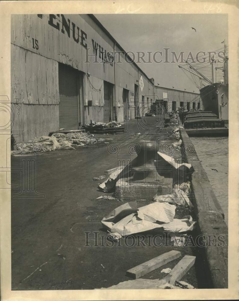
[[[140,118],[156,99],[168,101],[169,107],[170,101],[181,102],[180,91],[172,98],[170,89],[163,89],[155,87],[94,15],[11,17],[12,130],[17,141],[78,129],[91,120]],[[185,101],[192,100],[190,95]]]

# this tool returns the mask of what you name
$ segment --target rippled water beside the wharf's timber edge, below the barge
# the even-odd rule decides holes
[[[228,137],[190,137],[190,139],[228,224]]]

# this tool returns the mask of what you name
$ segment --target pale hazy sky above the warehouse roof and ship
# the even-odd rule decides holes
[[[196,57],[199,51],[208,53],[223,48],[224,44],[221,42],[224,39],[228,47],[226,14],[96,14],[95,17],[125,51],[132,51],[135,56],[136,51],[143,51],[146,54],[147,51],[152,53],[162,51],[162,56],[156,54],[157,61],[165,60],[164,48],[170,48],[168,61],[171,61],[171,51],[175,51],[177,57],[181,51],[184,51],[183,58],[186,60],[190,51],[193,57]],[[194,27],[196,32],[191,27]],[[207,54],[207,58],[208,56]],[[145,60],[148,61],[148,54]],[[178,64],[183,63],[139,62],[137,64],[149,78],[155,79],[155,85],[159,83],[161,87],[199,92],[191,81],[190,73],[183,72],[178,67]],[[209,67],[202,68],[201,71],[211,77],[210,63],[206,65]],[[197,65],[197,67],[201,66],[202,64]]]

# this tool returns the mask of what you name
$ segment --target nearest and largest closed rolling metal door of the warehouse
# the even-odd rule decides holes
[[[79,128],[77,72],[59,64],[59,128],[65,130]]]

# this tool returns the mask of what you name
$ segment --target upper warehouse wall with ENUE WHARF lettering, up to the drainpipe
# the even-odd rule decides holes
[[[70,28],[69,35],[67,27],[64,27],[62,24],[63,17]],[[65,14],[62,16],[55,14],[53,20],[48,14],[43,14],[42,18],[38,17],[37,14],[12,15],[11,22],[12,44],[114,84],[113,64],[102,63],[99,55],[97,56],[98,62],[95,62],[96,56],[93,51],[93,42],[96,42],[98,46],[97,54],[99,54],[99,46],[101,51],[103,48],[103,52],[113,52],[113,41],[88,15]],[[59,30],[49,23],[59,26]],[[75,25],[74,37],[77,42],[73,38],[72,24]],[[81,37],[83,40],[81,40]],[[33,47],[33,39],[34,42],[35,39],[38,41],[38,49]],[[88,57],[88,62],[87,51],[84,46],[89,48],[88,53],[90,56]]]

